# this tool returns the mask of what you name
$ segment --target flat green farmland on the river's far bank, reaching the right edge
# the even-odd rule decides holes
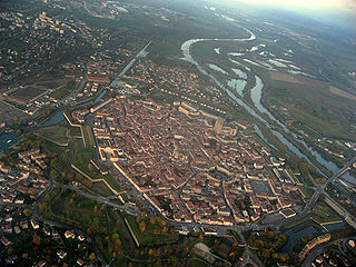
[[[265,77],[263,101],[276,105],[273,110],[281,117],[280,109],[286,107],[295,119],[293,127],[303,129],[314,137],[330,137],[355,140],[349,113],[355,102],[342,99],[328,90],[328,83],[309,78],[297,77],[303,83],[275,81]]]

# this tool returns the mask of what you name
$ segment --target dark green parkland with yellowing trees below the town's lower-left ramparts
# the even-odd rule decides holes
[[[161,231],[166,227],[166,222],[160,218],[151,220],[142,214],[140,222],[146,221],[147,227],[144,233],[140,233],[141,226],[139,226],[135,216],[119,212],[113,208],[78,196],[75,191],[59,188],[44,197],[44,201],[40,204],[39,209],[49,219],[86,231],[96,241],[106,259],[113,260],[111,263],[113,266],[128,266],[129,261],[126,256],[139,259],[144,266],[151,263],[152,259],[159,260],[160,258],[172,260],[172,263],[177,260],[196,263],[188,255],[188,251],[190,250],[189,244],[199,241],[199,238],[179,238],[174,229],[168,228],[167,234],[155,234],[156,229]],[[135,235],[140,238],[142,244],[140,248],[135,246],[123,218],[130,220]],[[212,246],[214,238],[208,244]]]

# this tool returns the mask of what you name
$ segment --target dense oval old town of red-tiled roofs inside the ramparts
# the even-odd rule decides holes
[[[243,125],[176,105],[125,97],[103,102],[93,119],[100,159],[176,221],[228,226],[263,212],[295,215],[287,208],[298,187],[283,159],[270,157]]]

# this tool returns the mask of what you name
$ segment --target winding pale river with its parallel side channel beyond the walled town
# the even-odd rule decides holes
[[[212,75],[208,73],[207,70],[205,70],[191,56],[190,52],[190,48],[192,44],[197,43],[197,42],[202,42],[202,41],[253,41],[256,39],[256,36],[248,29],[245,28],[245,30],[247,32],[250,33],[249,38],[244,38],[244,39],[190,39],[187,40],[186,42],[184,42],[181,44],[181,51],[184,55],[184,60],[192,63],[194,66],[196,66],[199,71],[208,77],[210,77],[224,91],[226,91],[228,93],[228,96],[230,98],[233,98],[238,105],[240,105],[241,107],[244,107],[251,116],[254,116],[255,118],[259,119],[261,122],[264,122],[269,129],[270,131],[285,145],[288,147],[288,149],[290,151],[293,151],[295,155],[297,155],[300,158],[305,158],[307,159],[309,162],[310,160],[308,159],[308,157],[306,155],[304,155],[294,144],[291,144],[289,140],[287,140],[285,138],[285,136],[283,134],[280,134],[277,130],[274,130],[273,127],[269,125],[269,122],[263,118],[259,113],[257,113],[255,111],[254,108],[256,108],[259,112],[261,113],[266,113],[271,120],[276,121],[285,131],[285,134],[290,134],[293,136],[293,138],[298,141],[299,144],[301,144],[314,157],[315,159],[323,166],[325,166],[328,170],[333,171],[334,174],[337,172],[339,170],[339,168],[332,161],[326,160],[325,158],[323,158],[323,156],[320,154],[318,154],[317,151],[315,151],[313,148],[310,148],[309,146],[306,145],[306,142],[301,139],[299,139],[297,137],[297,135],[295,135],[294,132],[291,132],[284,123],[281,123],[279,120],[277,120],[270,112],[269,110],[267,110],[260,102],[261,99],[261,93],[263,93],[263,88],[264,88],[264,82],[263,80],[258,77],[255,76],[256,79],[256,85],[255,87],[251,89],[251,99],[254,102],[254,108],[250,107],[245,100],[236,97],[228,88],[226,88],[217,78],[215,78]],[[355,178],[353,178],[352,176],[349,176],[348,174],[345,174],[343,176],[345,179],[353,180],[355,182]]]

